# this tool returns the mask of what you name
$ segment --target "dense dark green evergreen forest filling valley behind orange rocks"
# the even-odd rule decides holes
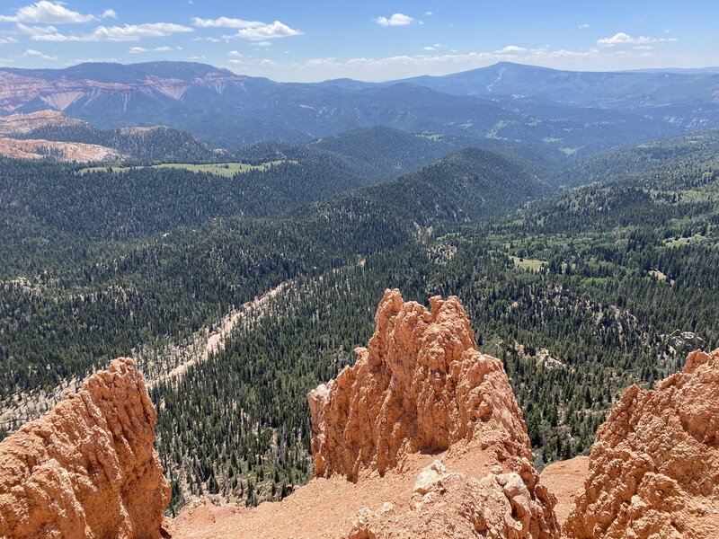
[[[231,179],[3,162],[0,403],[182,343],[285,283],[179,379],[153,378],[162,353],[142,361],[173,510],[200,493],[281,499],[312,473],[307,391],[351,364],[399,287],[459,296],[537,466],[586,453],[628,384],[681,367],[672,333],[719,343],[719,144],[691,139],[577,163],[550,182],[598,182],[561,193],[546,163],[476,149],[393,181],[336,147]]]

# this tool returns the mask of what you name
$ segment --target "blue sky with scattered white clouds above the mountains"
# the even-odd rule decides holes
[[[0,66],[193,60],[280,81],[443,75],[497,61],[719,66],[716,1],[2,0]]]

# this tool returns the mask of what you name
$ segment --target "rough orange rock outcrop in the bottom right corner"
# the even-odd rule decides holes
[[[564,531],[607,539],[719,537],[719,349],[652,391],[626,390],[599,429]]]

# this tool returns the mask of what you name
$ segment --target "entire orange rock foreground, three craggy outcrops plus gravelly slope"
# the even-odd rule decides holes
[[[387,290],[368,349],[309,393],[312,481],[253,509],[195,502],[174,539],[550,539],[570,507],[569,539],[719,537],[719,349],[627,389],[589,461],[540,482],[502,363],[476,350],[456,297],[430,304]],[[0,537],[164,535],[154,427],[142,376],[113,361],[0,443]]]

